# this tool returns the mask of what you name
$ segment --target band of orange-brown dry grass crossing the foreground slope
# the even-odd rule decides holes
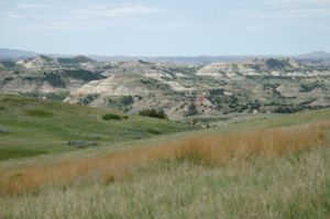
[[[69,186],[78,177],[100,177],[102,182],[131,176],[134,164],[188,158],[201,164],[246,162],[256,157],[276,157],[295,151],[320,147],[329,143],[330,121],[249,132],[198,136],[183,142],[113,151],[79,161],[53,165],[7,169],[0,166],[0,195],[35,193],[47,185]]]

